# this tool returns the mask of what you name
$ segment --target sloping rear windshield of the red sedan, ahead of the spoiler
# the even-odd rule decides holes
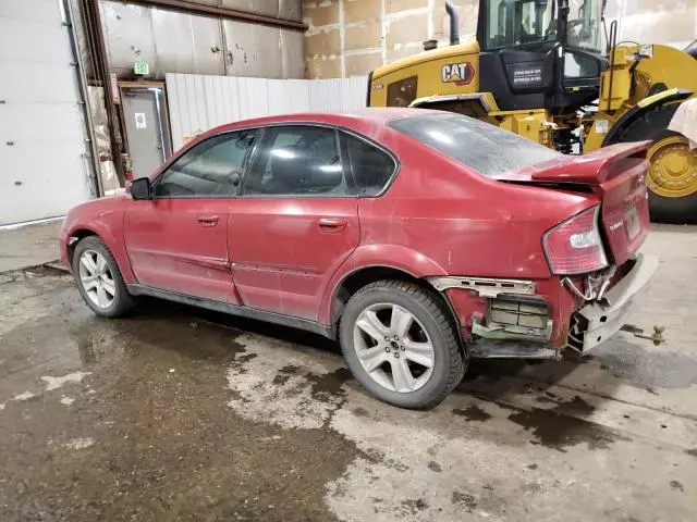
[[[460,114],[423,114],[388,125],[487,177],[561,156],[552,149]]]

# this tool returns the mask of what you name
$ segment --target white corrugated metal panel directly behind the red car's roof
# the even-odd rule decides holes
[[[223,123],[305,111],[365,107],[367,78],[268,79],[168,74],[167,99],[175,149]]]

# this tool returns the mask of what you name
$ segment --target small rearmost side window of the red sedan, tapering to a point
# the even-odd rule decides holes
[[[394,159],[384,150],[350,134],[341,133],[341,140],[353,174],[352,194],[377,196],[382,192],[396,170]]]

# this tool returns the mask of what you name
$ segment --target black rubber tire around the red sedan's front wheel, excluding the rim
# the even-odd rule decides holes
[[[100,308],[96,303],[93,302],[90,297],[87,295],[87,290],[85,289],[83,282],[80,276],[80,259],[87,250],[93,250],[101,254],[107,263],[108,270],[112,276],[114,282],[115,295],[113,296],[113,300],[110,306],[107,308]],[[80,290],[80,295],[83,296],[85,303],[95,312],[97,315],[101,315],[103,318],[121,318],[129,313],[135,306],[135,301],[129,290],[126,288],[125,283],[123,282],[123,277],[121,276],[121,271],[119,270],[119,265],[117,261],[113,259],[111,251],[105,245],[105,243],[96,236],[89,236],[84,239],[81,239],[80,243],[75,246],[73,251],[73,276],[75,277],[75,284],[77,285],[77,289]]]

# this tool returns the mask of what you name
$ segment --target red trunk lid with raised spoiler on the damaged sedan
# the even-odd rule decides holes
[[[649,231],[644,179],[649,141],[617,144],[578,157],[560,157],[494,178],[560,190],[591,190],[601,200],[600,221],[614,263],[623,264]]]

